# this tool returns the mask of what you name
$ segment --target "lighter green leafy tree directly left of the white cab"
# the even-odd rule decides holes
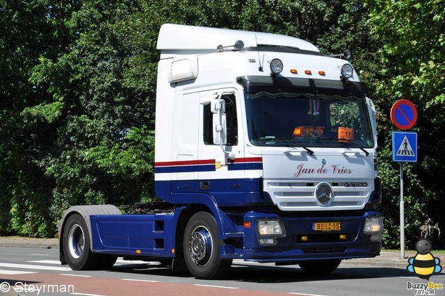
[[[51,97],[26,115],[56,131],[41,163],[55,182],[50,211],[56,217],[74,204],[120,205],[152,197],[145,185],[152,146],[144,144],[154,127],[154,80],[135,81],[140,72],[133,65],[140,64],[133,59],[142,49],[133,44],[129,24],[137,10],[132,1],[83,1],[64,19],[73,36],[69,50],[40,58],[33,69],[31,81]],[[49,109],[55,117],[47,117]]]

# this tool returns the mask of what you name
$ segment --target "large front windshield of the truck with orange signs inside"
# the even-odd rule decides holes
[[[249,76],[249,140],[256,146],[372,148],[361,83]]]

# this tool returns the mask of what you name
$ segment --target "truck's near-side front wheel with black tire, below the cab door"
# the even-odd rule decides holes
[[[197,279],[216,279],[229,271],[232,259],[220,258],[220,237],[215,218],[198,212],[184,231],[184,259],[188,271]]]

